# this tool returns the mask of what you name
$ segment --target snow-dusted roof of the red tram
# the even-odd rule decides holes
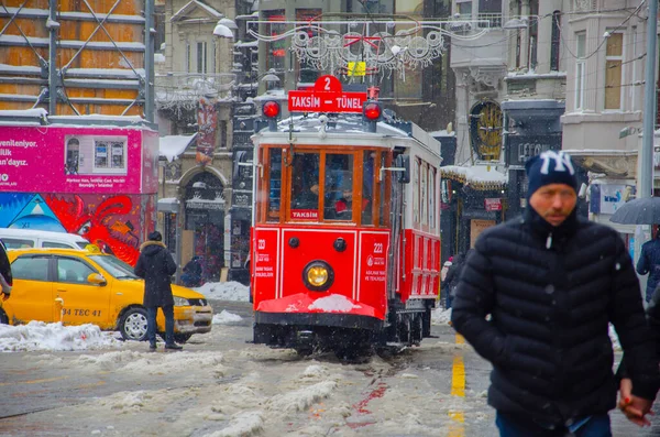
[[[286,134],[288,138],[293,124],[293,132],[299,134],[316,134],[321,131],[322,123],[319,121],[319,113],[307,116],[292,116],[277,123],[277,131],[271,131],[268,127],[260,129],[256,134],[270,136],[275,134]],[[262,121],[263,122],[263,121]],[[263,124],[262,124],[263,125]],[[376,123],[376,132],[369,132],[365,123],[362,121],[362,114],[342,113],[328,117],[326,123],[326,133],[328,138],[333,134],[341,136],[358,135],[365,140],[377,135],[380,138],[406,138],[416,140],[420,145],[430,152],[440,156],[440,142],[431,136],[427,131],[409,121],[380,121]],[[406,146],[406,144],[400,144]]]

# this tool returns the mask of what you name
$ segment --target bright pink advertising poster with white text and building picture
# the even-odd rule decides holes
[[[0,127],[0,192],[143,193],[142,135],[125,128]]]

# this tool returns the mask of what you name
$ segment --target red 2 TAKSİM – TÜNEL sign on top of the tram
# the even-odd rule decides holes
[[[305,91],[292,90],[288,95],[289,112],[358,112],[366,92],[344,92],[341,83],[334,76],[321,76],[314,88]]]

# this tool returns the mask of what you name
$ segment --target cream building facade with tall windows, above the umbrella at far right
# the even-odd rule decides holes
[[[617,229],[635,255],[639,241],[650,236],[636,236],[635,226],[609,217],[636,193],[645,70],[657,72],[646,58],[647,4],[564,3],[571,13],[562,22],[568,52],[563,149],[588,172],[590,218]]]

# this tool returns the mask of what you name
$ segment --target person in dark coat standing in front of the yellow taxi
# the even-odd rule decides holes
[[[161,232],[153,231],[148,241],[140,247],[135,274],[144,278],[144,307],[146,308],[146,337],[151,351],[156,350],[156,314],[158,307],[165,315],[165,349],[183,349],[174,342],[174,297],[170,276],[176,263],[162,242]]]

